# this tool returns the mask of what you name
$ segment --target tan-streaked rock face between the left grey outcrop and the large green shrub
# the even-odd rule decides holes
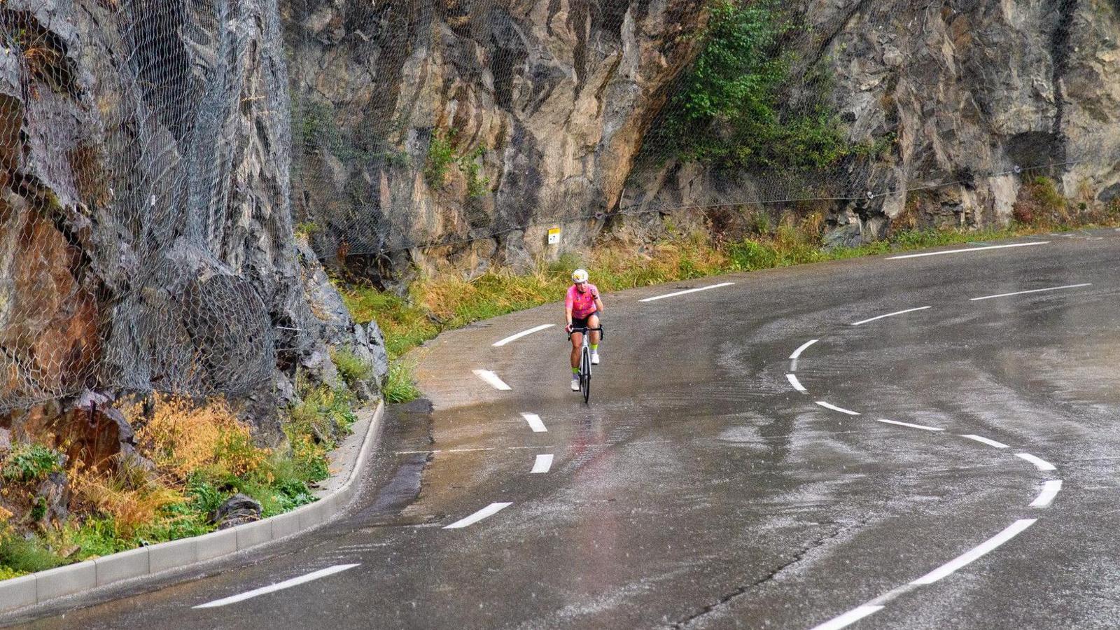
[[[617,206],[696,49],[694,0],[309,0],[286,10],[297,213],[367,272],[514,262]],[[530,225],[532,224],[532,225]],[[352,258],[352,261],[354,259]]]

